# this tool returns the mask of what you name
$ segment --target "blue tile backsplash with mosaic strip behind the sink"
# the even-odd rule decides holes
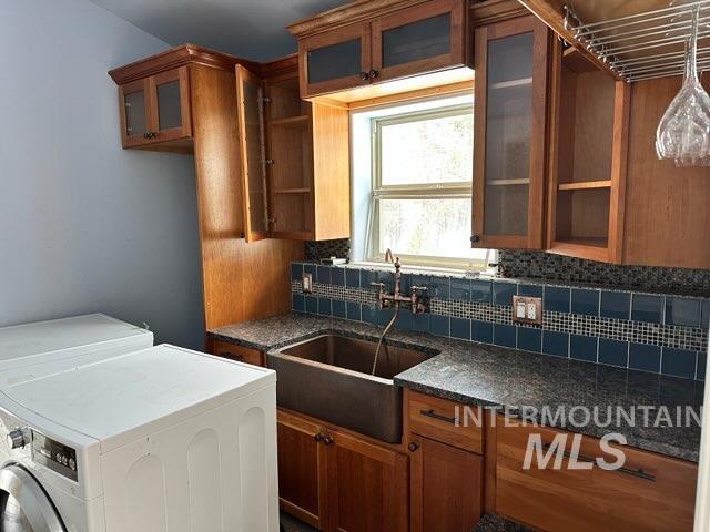
[[[313,294],[303,294],[303,272]],[[393,269],[291,265],[292,306],[301,313],[385,325],[371,283],[392,291]],[[402,309],[395,327],[596,364],[704,380],[710,299],[574,284],[403,274],[402,289],[427,286],[429,313]],[[541,326],[514,325],[514,295],[542,298]]]

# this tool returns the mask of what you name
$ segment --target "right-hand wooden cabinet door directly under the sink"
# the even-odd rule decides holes
[[[407,457],[342,432],[328,450],[331,526],[338,532],[407,530]]]

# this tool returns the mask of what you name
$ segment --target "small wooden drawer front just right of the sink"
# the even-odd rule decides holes
[[[468,427],[457,426],[456,407],[460,409],[462,421],[463,407],[416,391],[409,391],[407,397],[409,431],[459,449],[483,453],[483,423],[476,423],[477,419],[469,417]]]

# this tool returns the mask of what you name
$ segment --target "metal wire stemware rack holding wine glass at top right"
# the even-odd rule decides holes
[[[676,2],[671,2],[676,3]],[[684,72],[692,13],[698,17],[698,71],[710,70],[710,0],[673,4],[601,22],[584,23],[565,6],[565,28],[577,43],[627,82]]]

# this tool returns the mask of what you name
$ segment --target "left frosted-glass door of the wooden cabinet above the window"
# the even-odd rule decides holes
[[[304,98],[368,84],[369,22],[301,40],[298,61]]]

